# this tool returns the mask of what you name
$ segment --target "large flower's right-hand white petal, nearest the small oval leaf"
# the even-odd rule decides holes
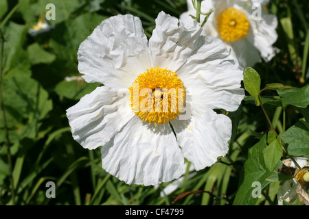
[[[185,74],[189,70],[194,73],[190,78]],[[203,40],[203,47],[179,70],[179,77],[184,78],[192,94],[192,110],[196,105],[205,105],[209,109],[236,111],[244,98],[244,89],[240,88],[243,72],[217,38],[207,36]]]

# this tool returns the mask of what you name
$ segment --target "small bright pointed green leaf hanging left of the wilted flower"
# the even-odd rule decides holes
[[[269,138],[268,138],[269,139]],[[282,157],[282,146],[280,136],[276,140],[273,140],[264,150],[264,162],[266,168],[272,172],[277,166],[280,158]]]

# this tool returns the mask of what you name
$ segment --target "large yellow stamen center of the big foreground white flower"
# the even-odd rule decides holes
[[[133,112],[142,121],[163,124],[176,118],[183,108],[185,87],[172,70],[147,69],[135,79],[130,90]]]

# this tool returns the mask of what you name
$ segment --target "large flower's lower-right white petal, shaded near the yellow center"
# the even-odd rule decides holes
[[[201,110],[202,111],[202,110]],[[225,156],[231,138],[231,120],[213,110],[193,112],[190,120],[172,120],[177,141],[183,155],[196,170],[211,166],[217,157]]]

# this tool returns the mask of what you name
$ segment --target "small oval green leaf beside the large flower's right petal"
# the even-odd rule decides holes
[[[260,93],[261,79],[260,75],[253,68],[244,70],[244,88],[255,99],[255,105],[260,105],[258,94]]]

